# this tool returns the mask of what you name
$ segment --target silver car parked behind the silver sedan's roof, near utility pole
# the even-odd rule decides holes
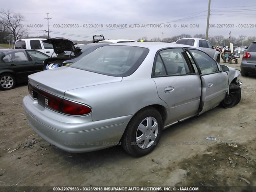
[[[183,38],[176,41],[176,43],[197,47],[214,58],[218,63],[220,63],[220,52],[218,52],[215,49],[215,46],[212,46],[208,40],[200,38]]]

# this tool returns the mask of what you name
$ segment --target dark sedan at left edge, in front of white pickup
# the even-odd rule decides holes
[[[10,90],[27,82],[28,75],[42,71],[49,56],[37,50],[0,50],[0,89]]]

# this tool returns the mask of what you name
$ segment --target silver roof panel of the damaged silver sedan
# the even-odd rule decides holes
[[[195,48],[190,45],[183,44],[173,44],[173,43],[162,43],[162,42],[130,42],[130,43],[118,43],[118,44],[110,44],[108,46],[136,46],[136,47],[144,47],[148,49],[162,49],[162,48],[172,48],[172,47],[187,47],[187,48]],[[196,48],[197,49],[197,48]]]

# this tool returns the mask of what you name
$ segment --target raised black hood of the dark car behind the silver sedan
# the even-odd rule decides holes
[[[56,37],[51,39],[46,39],[43,42],[52,44],[53,50],[56,54],[63,53],[64,51],[71,51],[71,52],[79,52],[80,49],[76,49],[74,43],[64,37]]]

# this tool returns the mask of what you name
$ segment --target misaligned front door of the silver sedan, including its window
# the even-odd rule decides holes
[[[221,72],[216,61],[200,50],[189,50],[202,81],[200,108],[202,114],[217,106],[227,95],[228,74]]]

